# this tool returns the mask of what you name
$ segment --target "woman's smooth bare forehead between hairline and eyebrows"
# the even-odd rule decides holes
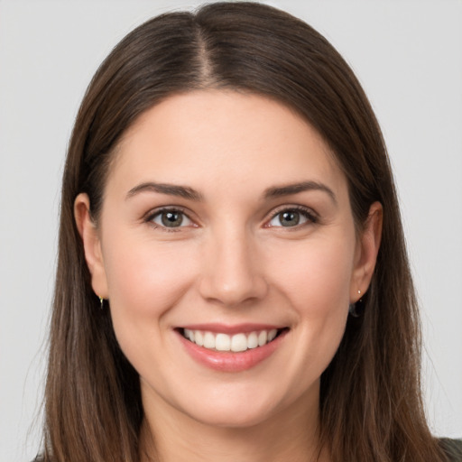
[[[143,113],[119,143],[111,177],[215,189],[346,184],[327,143],[290,107],[218,90],[175,95]]]

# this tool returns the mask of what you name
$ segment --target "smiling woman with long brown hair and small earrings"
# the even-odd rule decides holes
[[[64,172],[45,460],[457,457],[418,334],[382,135],[323,37],[239,2],[119,43]]]

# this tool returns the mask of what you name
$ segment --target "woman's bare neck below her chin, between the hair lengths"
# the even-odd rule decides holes
[[[239,428],[210,426],[175,409],[165,412],[166,406],[156,402],[153,412],[144,406],[141,462],[328,462],[326,451],[319,451],[318,401],[294,402]]]

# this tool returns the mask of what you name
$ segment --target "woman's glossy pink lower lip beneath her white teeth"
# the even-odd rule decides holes
[[[250,348],[238,353],[209,350],[187,340],[180,332],[177,332],[177,335],[189,355],[199,364],[220,372],[242,372],[251,369],[271,356],[281,345],[286,333],[287,330],[283,330],[278,337],[263,347]]]

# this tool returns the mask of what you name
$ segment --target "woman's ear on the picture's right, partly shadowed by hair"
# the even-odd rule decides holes
[[[357,241],[355,269],[350,287],[351,303],[359,300],[369,288],[382,238],[382,222],[382,204],[374,202],[369,208],[369,215],[365,220],[362,234]]]

